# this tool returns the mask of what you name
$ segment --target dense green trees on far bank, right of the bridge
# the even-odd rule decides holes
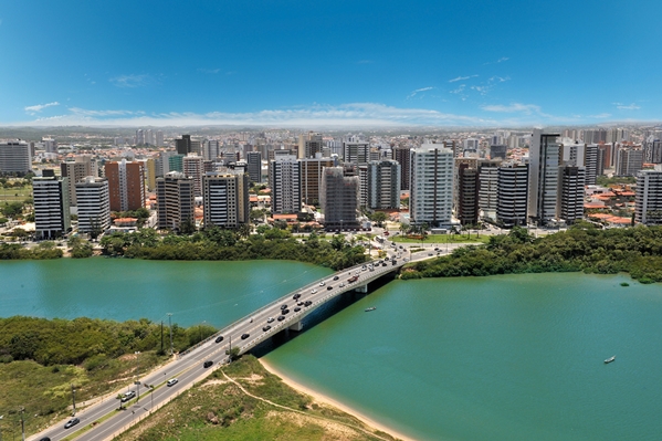
[[[507,235],[491,237],[485,245],[412,264],[402,279],[568,271],[629,272],[641,283],[662,282],[662,227],[599,230],[579,222],[538,239],[514,228]]]

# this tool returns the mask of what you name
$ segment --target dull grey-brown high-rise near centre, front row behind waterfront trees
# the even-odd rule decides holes
[[[346,177],[343,167],[325,167],[319,202],[326,230],[358,229],[358,176]]]

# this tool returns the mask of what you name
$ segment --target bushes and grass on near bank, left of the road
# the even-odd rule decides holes
[[[214,332],[207,325],[182,328],[174,324],[175,350],[188,348]],[[17,433],[21,407],[25,408],[28,433],[64,418],[72,402],[72,385],[78,402],[128,385],[138,367],[144,372],[168,358],[169,337],[165,326],[161,350],[160,324],[145,318],[124,323],[0,318],[0,414],[6,416],[2,434],[12,430]],[[140,351],[139,359],[135,351]]]

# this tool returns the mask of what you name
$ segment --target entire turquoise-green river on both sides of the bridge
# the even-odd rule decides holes
[[[329,272],[277,261],[2,262],[0,316],[160,321],[170,312],[180,325],[220,327]],[[662,433],[659,284],[525,274],[393,281],[354,298],[281,338],[267,361],[420,440]]]

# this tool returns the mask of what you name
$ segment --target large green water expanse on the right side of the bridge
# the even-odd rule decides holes
[[[624,276],[396,281],[265,358],[420,440],[659,440],[661,317]]]

